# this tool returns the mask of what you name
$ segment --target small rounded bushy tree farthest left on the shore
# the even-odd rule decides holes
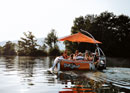
[[[2,47],[1,47],[2,49]],[[1,53],[3,55],[16,55],[15,52],[15,44],[11,41],[6,42],[6,44],[3,46],[3,52]]]

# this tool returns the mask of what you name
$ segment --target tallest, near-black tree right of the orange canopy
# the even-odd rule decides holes
[[[130,45],[130,18],[125,15],[116,16],[113,13],[103,12],[92,24],[91,33],[101,41],[102,49],[108,56],[128,56]]]

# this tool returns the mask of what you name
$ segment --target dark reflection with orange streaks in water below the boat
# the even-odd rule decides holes
[[[105,83],[105,81],[90,79],[83,74],[58,73],[57,78],[65,85],[63,91],[59,93],[97,93]]]

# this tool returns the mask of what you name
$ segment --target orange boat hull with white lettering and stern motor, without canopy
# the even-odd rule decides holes
[[[61,59],[57,65],[58,71],[60,70],[103,70],[106,69],[106,57],[100,56],[99,62],[95,65],[94,60],[68,60]]]

